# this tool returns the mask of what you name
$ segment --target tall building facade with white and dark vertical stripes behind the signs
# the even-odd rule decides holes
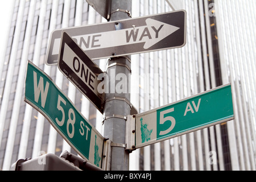
[[[104,135],[102,114],[45,64],[51,32],[106,22],[84,0],[13,0],[0,60],[0,169],[18,159],[76,152],[47,119],[24,102],[27,60],[46,72]],[[233,121],[139,148],[133,170],[255,170],[255,10],[253,0],[133,0],[132,17],[184,9],[187,44],[131,56],[131,103],[139,113],[232,84]],[[246,27],[246,28],[245,28]],[[96,60],[106,70],[108,59]]]

